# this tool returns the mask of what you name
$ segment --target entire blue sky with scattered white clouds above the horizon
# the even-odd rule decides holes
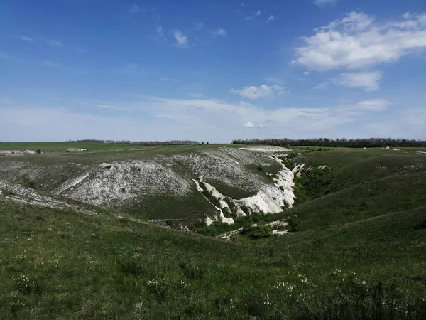
[[[425,0],[0,0],[0,141],[426,139]]]

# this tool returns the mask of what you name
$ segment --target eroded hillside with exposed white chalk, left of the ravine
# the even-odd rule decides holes
[[[90,158],[92,161],[80,162],[80,157],[70,153],[53,156],[52,161],[46,162],[33,161],[35,156],[2,157],[0,179],[18,181],[19,177],[27,176],[39,182],[45,191],[102,207],[139,206],[150,197],[163,195],[185,198],[197,191],[202,193],[205,188],[217,201],[211,203],[215,210],[209,210],[207,204],[200,214],[216,211],[209,219],[225,223],[234,223],[228,218],[229,211],[238,216],[251,212],[278,213],[282,206],[293,205],[293,175],[287,168],[265,176],[252,169],[276,164],[280,160],[271,153],[287,149],[212,146],[183,150],[141,156],[138,160],[129,160],[126,154],[114,154],[102,156],[98,162],[95,157]],[[214,188],[216,181],[251,196],[229,198]],[[210,220],[207,219],[212,223]]]

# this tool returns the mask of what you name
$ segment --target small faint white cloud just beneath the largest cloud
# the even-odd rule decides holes
[[[334,82],[346,87],[361,87],[366,91],[377,90],[378,82],[381,80],[380,71],[342,73],[334,79]]]

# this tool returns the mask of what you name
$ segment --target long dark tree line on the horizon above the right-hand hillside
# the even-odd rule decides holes
[[[236,139],[233,144],[268,144],[271,146],[345,146],[349,148],[374,148],[374,147],[403,147],[403,146],[423,146],[426,147],[425,140],[415,139],[391,139],[391,138],[367,138],[367,139]]]

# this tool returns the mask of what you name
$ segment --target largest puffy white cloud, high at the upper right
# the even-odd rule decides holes
[[[426,48],[426,13],[404,14],[399,20],[378,21],[351,12],[346,17],[302,37],[293,63],[310,70],[371,68],[392,63],[419,48]]]

